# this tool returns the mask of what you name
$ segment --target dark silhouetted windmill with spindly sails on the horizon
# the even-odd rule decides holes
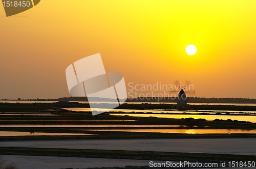
[[[187,104],[187,95],[194,96],[196,91],[192,83],[186,80],[184,83],[180,82],[180,80],[174,81],[174,89],[170,90],[170,93],[173,93],[177,97],[177,105],[185,106]]]

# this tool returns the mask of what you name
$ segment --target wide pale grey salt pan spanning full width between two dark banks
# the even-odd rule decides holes
[[[134,150],[256,155],[256,138],[115,139],[0,142],[0,147]]]

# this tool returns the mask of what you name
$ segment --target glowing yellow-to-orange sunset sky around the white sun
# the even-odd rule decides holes
[[[95,53],[126,83],[188,79],[197,97],[256,98],[255,9],[253,0],[41,0],[6,17],[0,4],[0,99],[69,97],[66,68]]]

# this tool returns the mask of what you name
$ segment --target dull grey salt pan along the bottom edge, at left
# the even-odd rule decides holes
[[[144,166],[149,160],[82,158],[82,157],[49,157],[0,155],[6,163],[14,163],[19,169],[56,169],[88,167],[124,167],[127,165]]]

